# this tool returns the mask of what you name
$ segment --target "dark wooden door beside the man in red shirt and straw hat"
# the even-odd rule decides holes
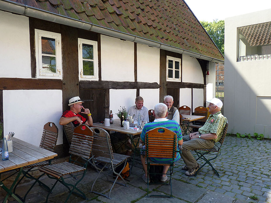
[[[82,90],[80,98],[84,101],[84,108],[90,110],[93,122],[104,121],[106,108],[106,90]],[[83,114],[82,114],[83,115]],[[109,114],[107,115],[109,117]]]

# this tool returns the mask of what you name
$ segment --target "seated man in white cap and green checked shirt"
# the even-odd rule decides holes
[[[199,169],[199,164],[191,154],[193,149],[211,149],[215,142],[221,138],[223,128],[227,123],[227,118],[221,114],[223,103],[218,98],[213,98],[209,102],[210,116],[206,120],[204,126],[199,128],[198,132],[190,133],[183,136],[184,143],[182,145],[182,159],[185,166],[183,170],[187,170],[185,175],[194,176]]]

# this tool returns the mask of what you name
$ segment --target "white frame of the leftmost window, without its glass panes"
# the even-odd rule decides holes
[[[42,73],[42,56],[52,56],[52,54],[42,54],[41,37],[55,39],[55,66],[56,73]],[[36,48],[36,73],[37,78],[62,79],[62,54],[61,54],[61,34],[35,29]]]

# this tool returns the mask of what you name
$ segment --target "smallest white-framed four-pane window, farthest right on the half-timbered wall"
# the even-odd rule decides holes
[[[181,59],[167,56],[167,79],[181,80]]]

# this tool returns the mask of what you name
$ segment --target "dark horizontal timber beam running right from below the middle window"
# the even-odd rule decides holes
[[[118,81],[80,81],[80,89],[157,89],[158,83],[118,82]]]

